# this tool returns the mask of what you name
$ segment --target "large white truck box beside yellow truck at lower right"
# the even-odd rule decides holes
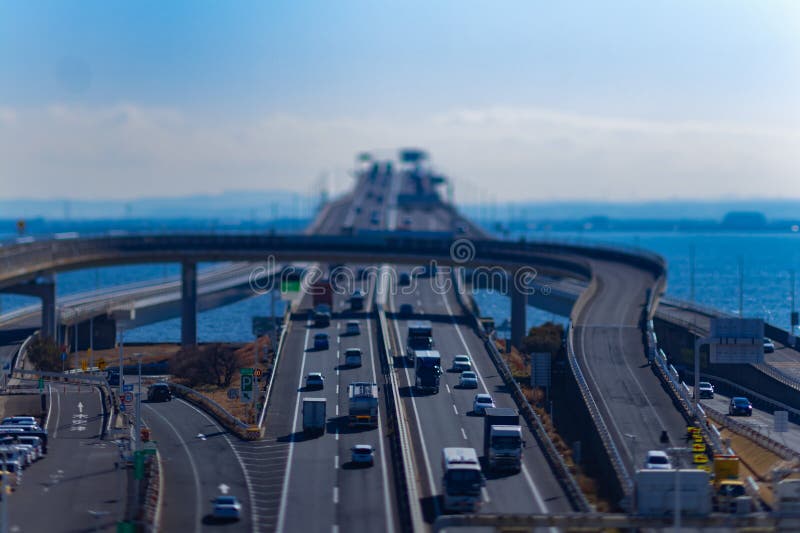
[[[706,516],[711,513],[712,485],[708,472],[704,470],[645,469],[636,472],[635,481],[637,514],[664,516],[674,513],[676,487],[679,487],[682,515]]]

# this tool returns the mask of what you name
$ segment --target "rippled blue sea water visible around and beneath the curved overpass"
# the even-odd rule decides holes
[[[744,272],[745,316],[762,317],[780,327],[789,327],[792,301],[791,272],[800,270],[800,234],[532,232],[526,237],[580,244],[618,244],[659,253],[666,258],[669,265],[668,294],[686,300],[690,298],[690,258],[694,249],[695,300],[733,313],[739,310],[741,260]],[[178,272],[177,264],[108,267],[69,272],[58,275],[58,293],[66,295],[122,283],[160,280],[175,277]],[[494,317],[498,324],[509,316],[510,304],[508,298],[504,296],[481,291],[476,294],[476,301],[481,313],[484,316]],[[0,295],[0,305],[4,312],[37,302],[31,298]],[[281,309],[278,307],[278,312]],[[201,341],[251,340],[251,318],[257,315],[269,315],[269,310],[269,297],[261,296],[200,313],[198,336]],[[546,320],[564,319],[534,309],[528,313],[529,325]],[[126,332],[125,337],[126,340],[140,342],[177,342],[180,339],[180,320],[176,318],[141,327]]]

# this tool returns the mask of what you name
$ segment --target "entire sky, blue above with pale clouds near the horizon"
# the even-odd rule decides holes
[[[792,1],[0,0],[0,196],[344,187],[412,144],[497,199],[800,197],[797,35]]]

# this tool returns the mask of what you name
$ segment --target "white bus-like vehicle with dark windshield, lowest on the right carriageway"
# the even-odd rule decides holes
[[[485,484],[475,448],[442,448],[445,511],[476,512],[481,505],[481,487]]]

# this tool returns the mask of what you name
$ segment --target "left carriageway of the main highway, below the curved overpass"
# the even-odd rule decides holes
[[[367,284],[359,282],[366,289]],[[346,296],[334,298],[333,319],[328,327],[314,327],[305,312],[310,297],[292,317],[291,330],[284,346],[283,360],[275,376],[273,394],[280,398],[267,414],[265,443],[276,453],[284,453],[280,506],[275,530],[283,531],[396,531],[396,496],[388,464],[386,413],[380,403],[378,428],[348,427],[347,386],[354,381],[369,381],[383,390],[377,347],[376,321],[371,312],[371,291],[367,308],[351,311]],[[359,335],[343,335],[345,323],[358,320]],[[330,347],[314,350],[314,335],[327,333]],[[344,350],[359,348],[362,366],[347,367]],[[305,389],[304,377],[321,372],[322,390]],[[274,396],[275,397],[275,396]],[[322,436],[306,438],[302,432],[302,398],[327,400],[327,427]],[[350,448],[371,444],[375,465],[359,468],[350,462]],[[277,466],[277,465],[276,465]],[[277,470],[277,469],[276,469]],[[276,474],[281,476],[276,476]],[[313,503],[311,503],[313,502]],[[313,509],[313,512],[309,512]]]

